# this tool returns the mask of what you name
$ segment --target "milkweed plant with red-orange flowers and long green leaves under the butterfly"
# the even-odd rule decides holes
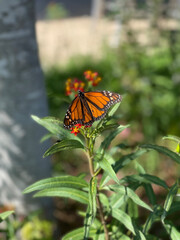
[[[91,90],[101,81],[98,73],[86,71],[85,81],[68,79],[66,95],[72,100],[77,90]],[[125,101],[125,99],[123,100]],[[122,102],[123,102],[122,101]],[[149,151],[156,151],[169,157],[175,164],[180,164],[180,138],[168,136],[166,139],[177,142],[177,149],[172,151],[164,146],[143,144],[134,151],[122,155],[123,143],[114,146],[112,141],[129,125],[121,125],[116,110],[120,102],[113,105],[106,116],[90,127],[77,124],[71,130],[63,127],[63,122],[54,117],[32,118],[45,127],[49,134],[44,137],[55,137],[56,142],[44,154],[44,157],[60,151],[81,149],[86,153],[89,173],[78,176],[63,175],[40,180],[24,190],[24,193],[36,191],[34,197],[71,198],[86,206],[86,212],[79,214],[84,217],[84,226],[75,229],[62,240],[130,240],[160,239],[151,232],[152,226],[159,222],[165,236],[172,240],[180,239],[180,229],[169,216],[180,210],[180,190],[176,181],[172,186],[158,176],[150,175],[137,159],[146,161]],[[103,134],[106,132],[106,137]],[[97,147],[97,139],[103,139]],[[120,154],[121,153],[121,154]],[[145,155],[146,154],[146,155]],[[122,178],[120,172],[134,162],[135,174]],[[157,202],[154,186],[164,189],[166,196],[161,203]],[[137,190],[144,188],[146,201],[142,200]],[[139,210],[144,209],[146,219],[140,221]],[[162,238],[161,238],[162,239]]]

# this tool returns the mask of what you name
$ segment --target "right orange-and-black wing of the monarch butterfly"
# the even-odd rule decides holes
[[[85,92],[84,96],[93,121],[103,118],[113,104],[122,101],[121,95],[110,91]],[[86,124],[86,119],[84,123]]]

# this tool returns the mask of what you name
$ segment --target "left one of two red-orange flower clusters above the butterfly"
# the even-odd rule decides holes
[[[71,79],[68,78],[66,81],[66,95],[69,96],[73,92],[77,92],[78,90],[84,92],[85,83],[77,78]]]

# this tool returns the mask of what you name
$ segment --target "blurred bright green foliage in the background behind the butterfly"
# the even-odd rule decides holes
[[[124,122],[133,123],[133,133],[142,132],[148,141],[158,139],[159,135],[178,135],[180,38],[176,37],[176,44],[173,46],[175,55],[172,56],[168,34],[162,35],[157,46],[142,46],[135,33],[128,31],[127,41],[120,43],[115,51],[104,49],[100,60],[76,56],[65,67],[46,70],[51,114],[62,118],[61,114],[68,107],[62,83],[69,77],[83,79],[82,72],[92,69],[103,79],[99,89],[126,93],[121,113]],[[163,41],[165,44],[161,44]]]

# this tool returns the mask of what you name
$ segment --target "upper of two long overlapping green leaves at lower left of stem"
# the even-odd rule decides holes
[[[23,193],[30,193],[37,190],[53,189],[58,187],[82,189],[82,188],[88,187],[88,183],[84,179],[80,177],[74,177],[74,176],[60,176],[60,177],[46,178],[27,187],[23,191]]]

